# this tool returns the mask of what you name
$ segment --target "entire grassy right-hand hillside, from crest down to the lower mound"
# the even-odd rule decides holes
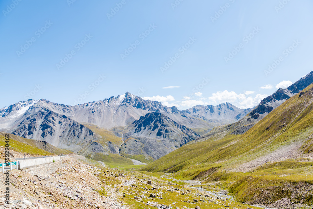
[[[312,191],[290,195],[288,188],[297,190],[302,188],[301,185],[312,186],[312,181],[309,181],[313,179],[310,166],[313,150],[312,95],[313,85],[310,85],[246,133],[218,133],[216,130],[219,128],[213,129],[214,134],[208,133],[202,141],[182,146],[141,170],[175,172],[173,176],[182,180],[219,182],[239,201],[269,204],[282,197],[297,201],[302,195],[303,201],[309,203]],[[277,161],[280,163],[274,163]],[[284,175],[289,176],[285,178]],[[281,188],[286,188],[289,193],[279,195]],[[271,195],[268,198],[261,195],[263,199],[259,199],[262,191]],[[307,195],[308,199],[305,199]]]

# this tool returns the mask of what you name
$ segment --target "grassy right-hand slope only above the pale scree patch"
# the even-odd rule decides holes
[[[205,138],[206,140],[203,141],[194,141],[145,166],[144,169],[164,171],[172,168],[172,170],[175,170],[174,166],[188,165],[187,159],[193,160],[192,164],[198,164],[200,162],[215,163],[216,161],[227,161],[238,156],[240,158],[249,156],[244,159],[251,161],[256,159],[259,154],[266,154],[270,149],[293,144],[294,137],[300,137],[303,142],[302,146],[306,148],[299,148],[299,153],[304,150],[307,150],[306,153],[308,153],[310,150],[308,148],[310,147],[310,134],[311,132],[313,133],[310,121],[310,118],[313,117],[312,95],[313,88],[310,85],[301,93],[298,93],[270,112],[244,134],[226,134],[218,139],[213,135],[213,137]],[[173,159],[171,155],[176,156],[179,153],[183,153],[183,157],[169,160],[169,164],[166,165],[163,158]],[[189,157],[187,157],[188,153],[190,154]],[[198,156],[204,153],[204,156],[208,158]],[[251,158],[251,154],[254,156],[253,158]],[[238,163],[239,161],[236,159],[234,162]],[[163,166],[159,167],[157,163],[161,163]],[[158,170],[153,168],[158,168]]]

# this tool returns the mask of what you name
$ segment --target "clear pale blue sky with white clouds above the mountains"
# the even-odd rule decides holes
[[[309,0],[11,0],[0,8],[0,107],[129,91],[179,109],[246,108],[313,70]]]

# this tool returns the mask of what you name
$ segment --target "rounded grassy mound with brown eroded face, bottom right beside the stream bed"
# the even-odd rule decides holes
[[[296,203],[312,204],[313,192],[303,190],[313,185],[310,165],[309,162],[293,161],[268,163],[237,177],[225,175],[224,180],[228,182],[227,188],[236,201],[269,204],[281,198],[290,198]]]

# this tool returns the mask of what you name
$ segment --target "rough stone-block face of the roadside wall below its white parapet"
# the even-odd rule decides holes
[[[25,171],[32,174],[32,175],[38,175],[38,176],[47,176],[52,173],[54,173],[59,168],[63,167],[62,159],[55,161],[54,163],[44,164],[44,165],[38,165],[32,168],[28,168]]]

